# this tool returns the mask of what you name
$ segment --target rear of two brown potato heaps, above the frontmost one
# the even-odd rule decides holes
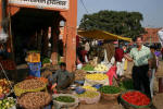
[[[40,88],[43,87],[45,83],[39,81],[39,80],[25,80],[21,83],[18,83],[17,87],[21,89],[36,89],[36,88]]]

